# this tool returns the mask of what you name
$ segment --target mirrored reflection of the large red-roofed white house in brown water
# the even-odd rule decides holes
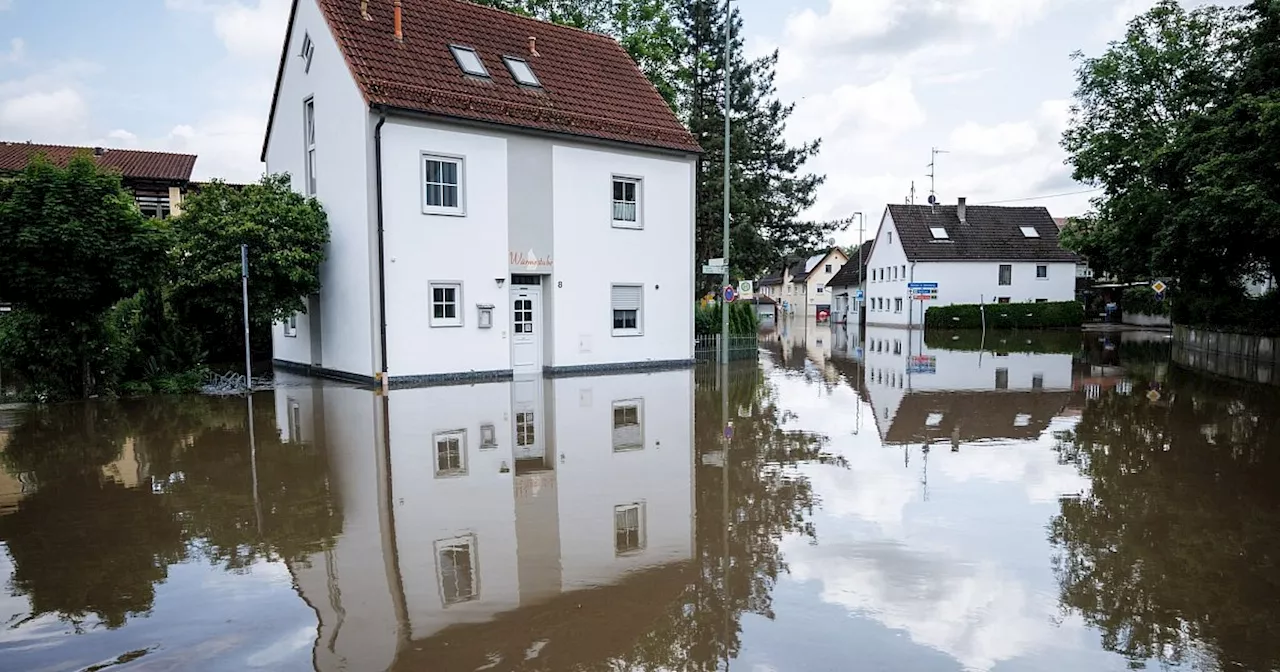
[[[639,596],[685,585],[687,370],[385,398],[287,388],[276,404],[287,438],[325,443],[343,503],[334,548],[292,567],[320,621],[317,669],[563,662],[593,628],[639,618]]]

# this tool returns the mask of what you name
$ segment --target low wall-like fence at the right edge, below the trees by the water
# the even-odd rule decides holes
[[[1280,339],[1174,326],[1174,361],[1256,383],[1280,383]]]

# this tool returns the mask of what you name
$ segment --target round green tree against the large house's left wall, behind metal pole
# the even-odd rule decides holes
[[[183,202],[172,300],[184,324],[200,333],[215,360],[233,360],[243,334],[241,244],[248,244],[248,305],[253,333],[306,311],[320,291],[329,223],[315,198],[291,188],[287,174],[232,187],[214,182]]]

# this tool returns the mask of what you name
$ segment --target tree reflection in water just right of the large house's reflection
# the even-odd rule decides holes
[[[753,362],[730,374],[733,442],[722,470],[709,457],[723,447],[716,375],[716,369],[699,370],[695,392],[698,580],[631,652],[605,668],[701,671],[735,658],[742,616],[773,618],[773,586],[787,571],[778,543],[792,534],[817,540],[809,521],[817,498],[796,467],[844,466],[844,460],[823,452],[822,436],[781,429],[786,413]]]

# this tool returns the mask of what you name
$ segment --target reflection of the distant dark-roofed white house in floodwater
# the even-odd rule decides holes
[[[865,385],[887,444],[1032,439],[1071,398],[1071,355],[950,351],[869,326]]]

